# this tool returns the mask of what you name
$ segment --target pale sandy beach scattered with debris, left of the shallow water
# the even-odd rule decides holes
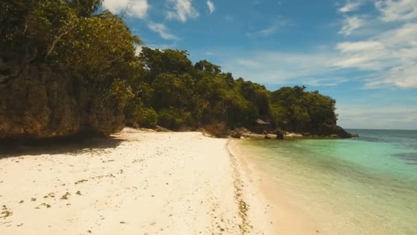
[[[0,153],[0,234],[273,234],[227,142],[125,128]]]

